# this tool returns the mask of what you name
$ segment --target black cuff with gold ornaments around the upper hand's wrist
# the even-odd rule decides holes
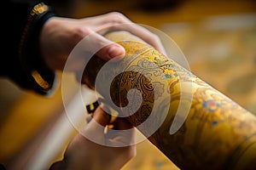
[[[44,63],[39,53],[39,35],[46,20],[54,14],[44,3],[36,4],[27,19],[19,46],[19,59],[29,87],[39,94],[48,94],[53,88],[55,71]]]

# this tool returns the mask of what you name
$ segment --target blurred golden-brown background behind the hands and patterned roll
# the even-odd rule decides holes
[[[119,11],[138,24],[165,32],[181,48],[195,75],[256,115],[256,1],[55,0],[49,4],[57,14],[75,18]],[[75,95],[73,82],[67,88],[70,99]],[[61,86],[45,98],[1,78],[0,111],[0,162],[8,169],[48,168],[61,159],[76,133],[65,116]],[[123,169],[178,168],[145,140],[137,144],[137,156]]]

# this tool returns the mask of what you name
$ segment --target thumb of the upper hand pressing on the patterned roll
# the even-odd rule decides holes
[[[102,35],[92,32],[84,37],[82,48],[104,60],[113,58],[122,59],[125,56],[125,48],[118,43],[112,42]]]

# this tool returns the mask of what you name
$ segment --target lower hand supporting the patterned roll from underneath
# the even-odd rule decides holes
[[[110,116],[98,107],[92,120],[82,129],[82,133],[85,136],[93,135],[96,142],[101,144],[90,141],[84,138],[83,134],[78,133],[68,145],[64,159],[55,162],[49,169],[119,170],[123,167],[136,155],[136,145],[133,144],[135,129],[132,129],[131,124],[125,118],[118,117],[113,122],[113,128],[116,130],[132,129],[132,131],[104,133],[103,127],[108,125],[109,120]],[[106,145],[102,145],[103,143]]]

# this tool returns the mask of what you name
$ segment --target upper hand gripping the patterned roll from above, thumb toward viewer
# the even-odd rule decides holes
[[[143,26],[134,24],[123,14],[113,12],[84,19],[50,18],[44,24],[40,35],[42,57],[50,69],[62,71],[73,48],[84,37],[88,37],[83,44],[85,52],[96,53],[98,57],[105,60],[114,57],[122,58],[125,55],[125,49],[118,43],[103,37],[108,31],[130,31],[160,52],[165,53],[159,37]],[[81,68],[84,66],[83,63],[83,59],[79,58],[73,67]]]

